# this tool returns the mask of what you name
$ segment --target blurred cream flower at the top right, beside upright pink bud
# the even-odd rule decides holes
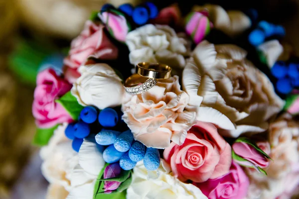
[[[250,18],[239,10],[225,11],[220,5],[205,4],[194,6],[194,11],[208,10],[209,19],[216,29],[229,36],[237,36],[251,27]]]

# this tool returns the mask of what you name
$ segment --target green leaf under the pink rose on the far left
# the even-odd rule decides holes
[[[51,128],[37,128],[33,138],[33,144],[38,146],[47,145],[57,127],[58,124]]]

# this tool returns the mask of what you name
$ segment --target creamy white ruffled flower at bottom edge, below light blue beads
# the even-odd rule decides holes
[[[194,185],[173,177],[163,159],[155,171],[148,171],[143,161],[138,162],[132,177],[127,199],[207,199]]]

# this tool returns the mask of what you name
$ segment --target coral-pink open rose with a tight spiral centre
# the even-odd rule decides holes
[[[232,162],[230,145],[213,124],[206,122],[197,122],[181,146],[171,142],[163,155],[173,175],[182,182],[218,178],[229,172]]]

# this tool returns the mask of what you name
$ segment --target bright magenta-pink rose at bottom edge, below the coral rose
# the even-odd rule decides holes
[[[194,185],[208,199],[244,199],[249,188],[249,180],[242,168],[233,162],[228,174]]]

